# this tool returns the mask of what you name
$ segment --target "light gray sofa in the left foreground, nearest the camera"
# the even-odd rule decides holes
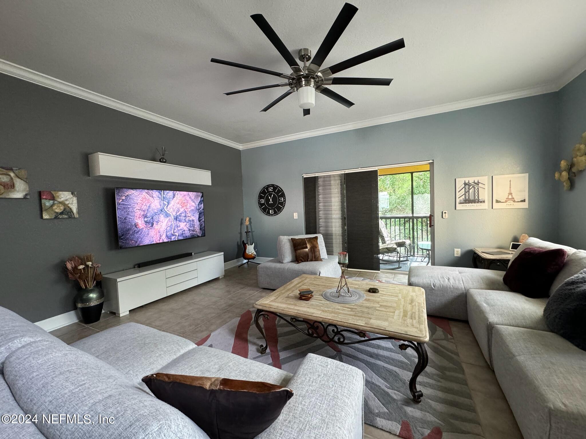
[[[363,437],[364,373],[345,363],[309,354],[291,375],[136,323],[68,346],[0,307],[0,414],[16,415],[14,423],[0,423],[0,438],[208,438],[152,396],[141,378],[155,372],[290,387],[295,395],[257,438]],[[23,423],[26,415],[36,415],[36,423]],[[84,415],[94,424],[84,423]],[[113,423],[98,423],[100,415]]]

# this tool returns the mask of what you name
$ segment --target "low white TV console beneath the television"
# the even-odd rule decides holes
[[[103,275],[104,310],[118,317],[128,311],[197,284],[224,277],[224,253],[203,252],[188,258]]]

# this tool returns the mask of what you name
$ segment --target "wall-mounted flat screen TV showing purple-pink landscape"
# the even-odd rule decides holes
[[[120,248],[206,235],[203,193],[117,187]]]

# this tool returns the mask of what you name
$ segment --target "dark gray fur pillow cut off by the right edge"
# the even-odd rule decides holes
[[[568,278],[543,310],[547,327],[586,351],[586,269]]]

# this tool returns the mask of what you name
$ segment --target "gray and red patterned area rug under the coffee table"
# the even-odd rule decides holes
[[[271,315],[270,320],[264,320],[268,351],[261,355],[258,346],[264,340],[254,326],[253,315],[254,310],[246,311],[197,344],[233,352],[291,373],[310,352],[333,358],[356,366],[366,375],[364,421],[367,424],[405,439],[483,437],[448,320],[428,318],[429,363],[417,379],[423,401],[415,404],[408,389],[417,362],[417,354],[412,349],[401,351],[398,343],[391,340],[348,346],[325,344]]]

